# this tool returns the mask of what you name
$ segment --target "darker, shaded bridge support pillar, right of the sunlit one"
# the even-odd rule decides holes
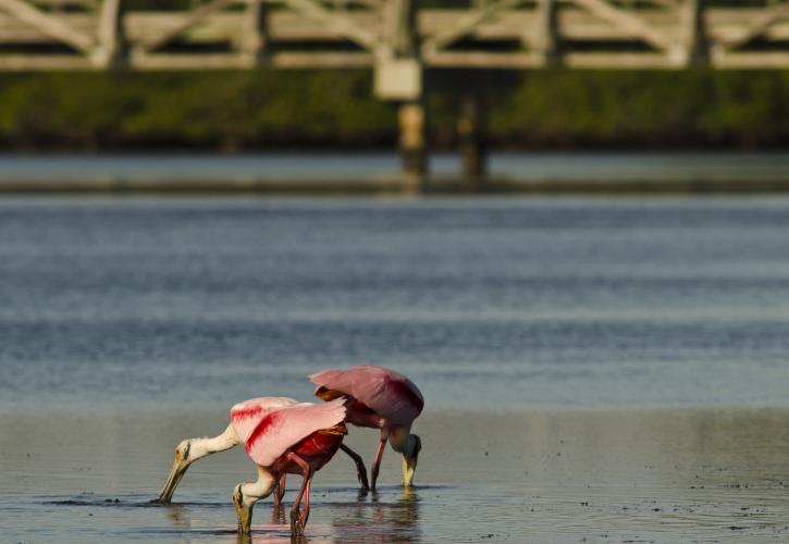
[[[465,184],[469,190],[481,190],[488,171],[485,108],[482,97],[466,95],[460,99],[457,137]]]

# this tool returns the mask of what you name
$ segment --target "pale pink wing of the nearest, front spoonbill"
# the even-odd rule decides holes
[[[287,448],[316,431],[329,429],[345,419],[345,398],[313,405],[300,403],[266,416],[246,443],[249,458],[270,467]]]

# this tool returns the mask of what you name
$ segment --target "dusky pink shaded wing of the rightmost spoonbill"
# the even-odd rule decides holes
[[[392,423],[408,424],[422,412],[424,398],[403,374],[371,364],[310,374],[315,384],[360,400]],[[317,390],[316,390],[317,392]]]

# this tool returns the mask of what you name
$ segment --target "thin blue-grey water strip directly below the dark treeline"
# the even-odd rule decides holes
[[[457,154],[433,153],[431,174],[460,173]],[[781,152],[574,152],[491,153],[489,171],[513,182],[786,182],[789,153]],[[222,182],[229,186],[256,181],[350,184],[400,177],[397,153],[263,154],[0,154],[0,184],[22,182],[69,185]]]

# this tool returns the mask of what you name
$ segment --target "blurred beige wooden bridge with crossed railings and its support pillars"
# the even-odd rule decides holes
[[[399,104],[416,183],[431,82],[467,95],[458,134],[480,178],[481,72],[693,65],[789,67],[789,1],[0,0],[4,71],[369,67],[375,95]]]

